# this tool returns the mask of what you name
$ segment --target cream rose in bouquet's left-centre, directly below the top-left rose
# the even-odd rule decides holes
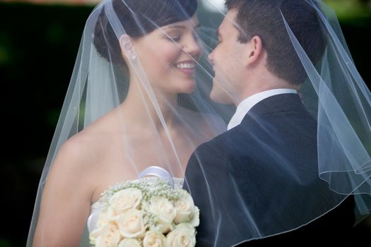
[[[119,226],[119,232],[124,238],[141,237],[146,231],[143,223],[143,213],[134,208],[114,217],[114,221]]]

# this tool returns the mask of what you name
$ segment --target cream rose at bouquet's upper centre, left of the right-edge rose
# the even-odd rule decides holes
[[[158,224],[162,233],[172,230],[172,220],[177,215],[177,210],[167,198],[153,196],[150,200],[148,211],[158,216]]]

